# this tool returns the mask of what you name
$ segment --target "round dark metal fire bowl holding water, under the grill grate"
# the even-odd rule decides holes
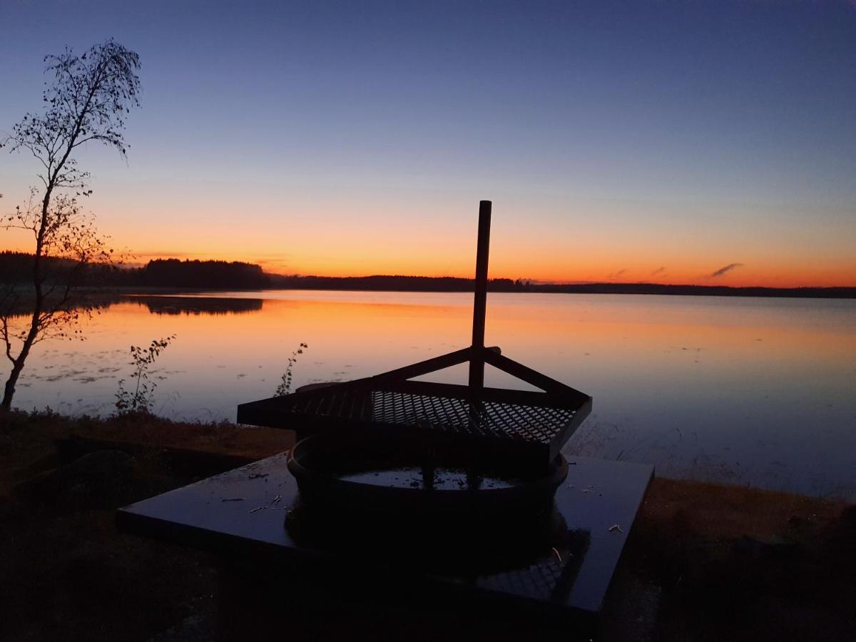
[[[300,441],[288,470],[300,504],[287,526],[312,545],[419,550],[435,567],[461,568],[550,551],[562,534],[553,503],[568,475],[561,456],[521,470],[510,457],[479,461],[418,438],[339,432]]]

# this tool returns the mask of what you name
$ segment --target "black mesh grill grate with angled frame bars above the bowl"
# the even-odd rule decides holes
[[[546,389],[472,389],[406,378],[471,359]],[[237,420],[292,429],[299,438],[327,430],[407,436],[546,466],[590,412],[591,396],[502,357],[497,348],[465,348],[374,377],[244,403]]]

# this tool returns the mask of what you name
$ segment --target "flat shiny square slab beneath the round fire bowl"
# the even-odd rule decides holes
[[[258,576],[263,569],[268,578],[320,583],[340,597],[377,591],[381,604],[384,592],[413,596],[426,608],[426,597],[450,598],[459,609],[487,604],[491,613],[568,621],[581,633],[596,625],[654,469],[582,457],[571,457],[568,464],[568,479],[556,491],[563,533],[551,542],[557,545],[516,568],[468,576],[434,574],[414,568],[412,561],[360,555],[347,546],[298,544],[286,528],[298,492],[285,455],[134,503],[118,511],[117,522],[128,532],[220,554],[233,574],[246,568]],[[341,526],[347,538],[348,523]]]

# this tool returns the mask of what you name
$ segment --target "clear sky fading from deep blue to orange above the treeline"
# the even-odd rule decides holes
[[[0,132],[45,54],[140,54],[128,163],[80,154],[138,260],[472,276],[491,199],[491,276],[856,285],[856,2],[0,0],[0,25]],[[0,211],[36,169],[0,152]]]

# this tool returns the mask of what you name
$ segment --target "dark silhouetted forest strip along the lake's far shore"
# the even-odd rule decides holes
[[[74,264],[48,259],[48,270],[61,275]],[[32,278],[33,255],[0,253],[0,282],[26,283]],[[114,288],[172,289],[318,289],[392,292],[473,292],[471,278],[457,276],[282,276],[260,265],[240,261],[155,259],[142,267],[88,265],[80,285]],[[724,285],[661,285],[659,283],[532,283],[526,279],[490,279],[491,292],[567,294],[691,294],[704,296],[780,296],[856,299],[854,288],[732,288]]]

